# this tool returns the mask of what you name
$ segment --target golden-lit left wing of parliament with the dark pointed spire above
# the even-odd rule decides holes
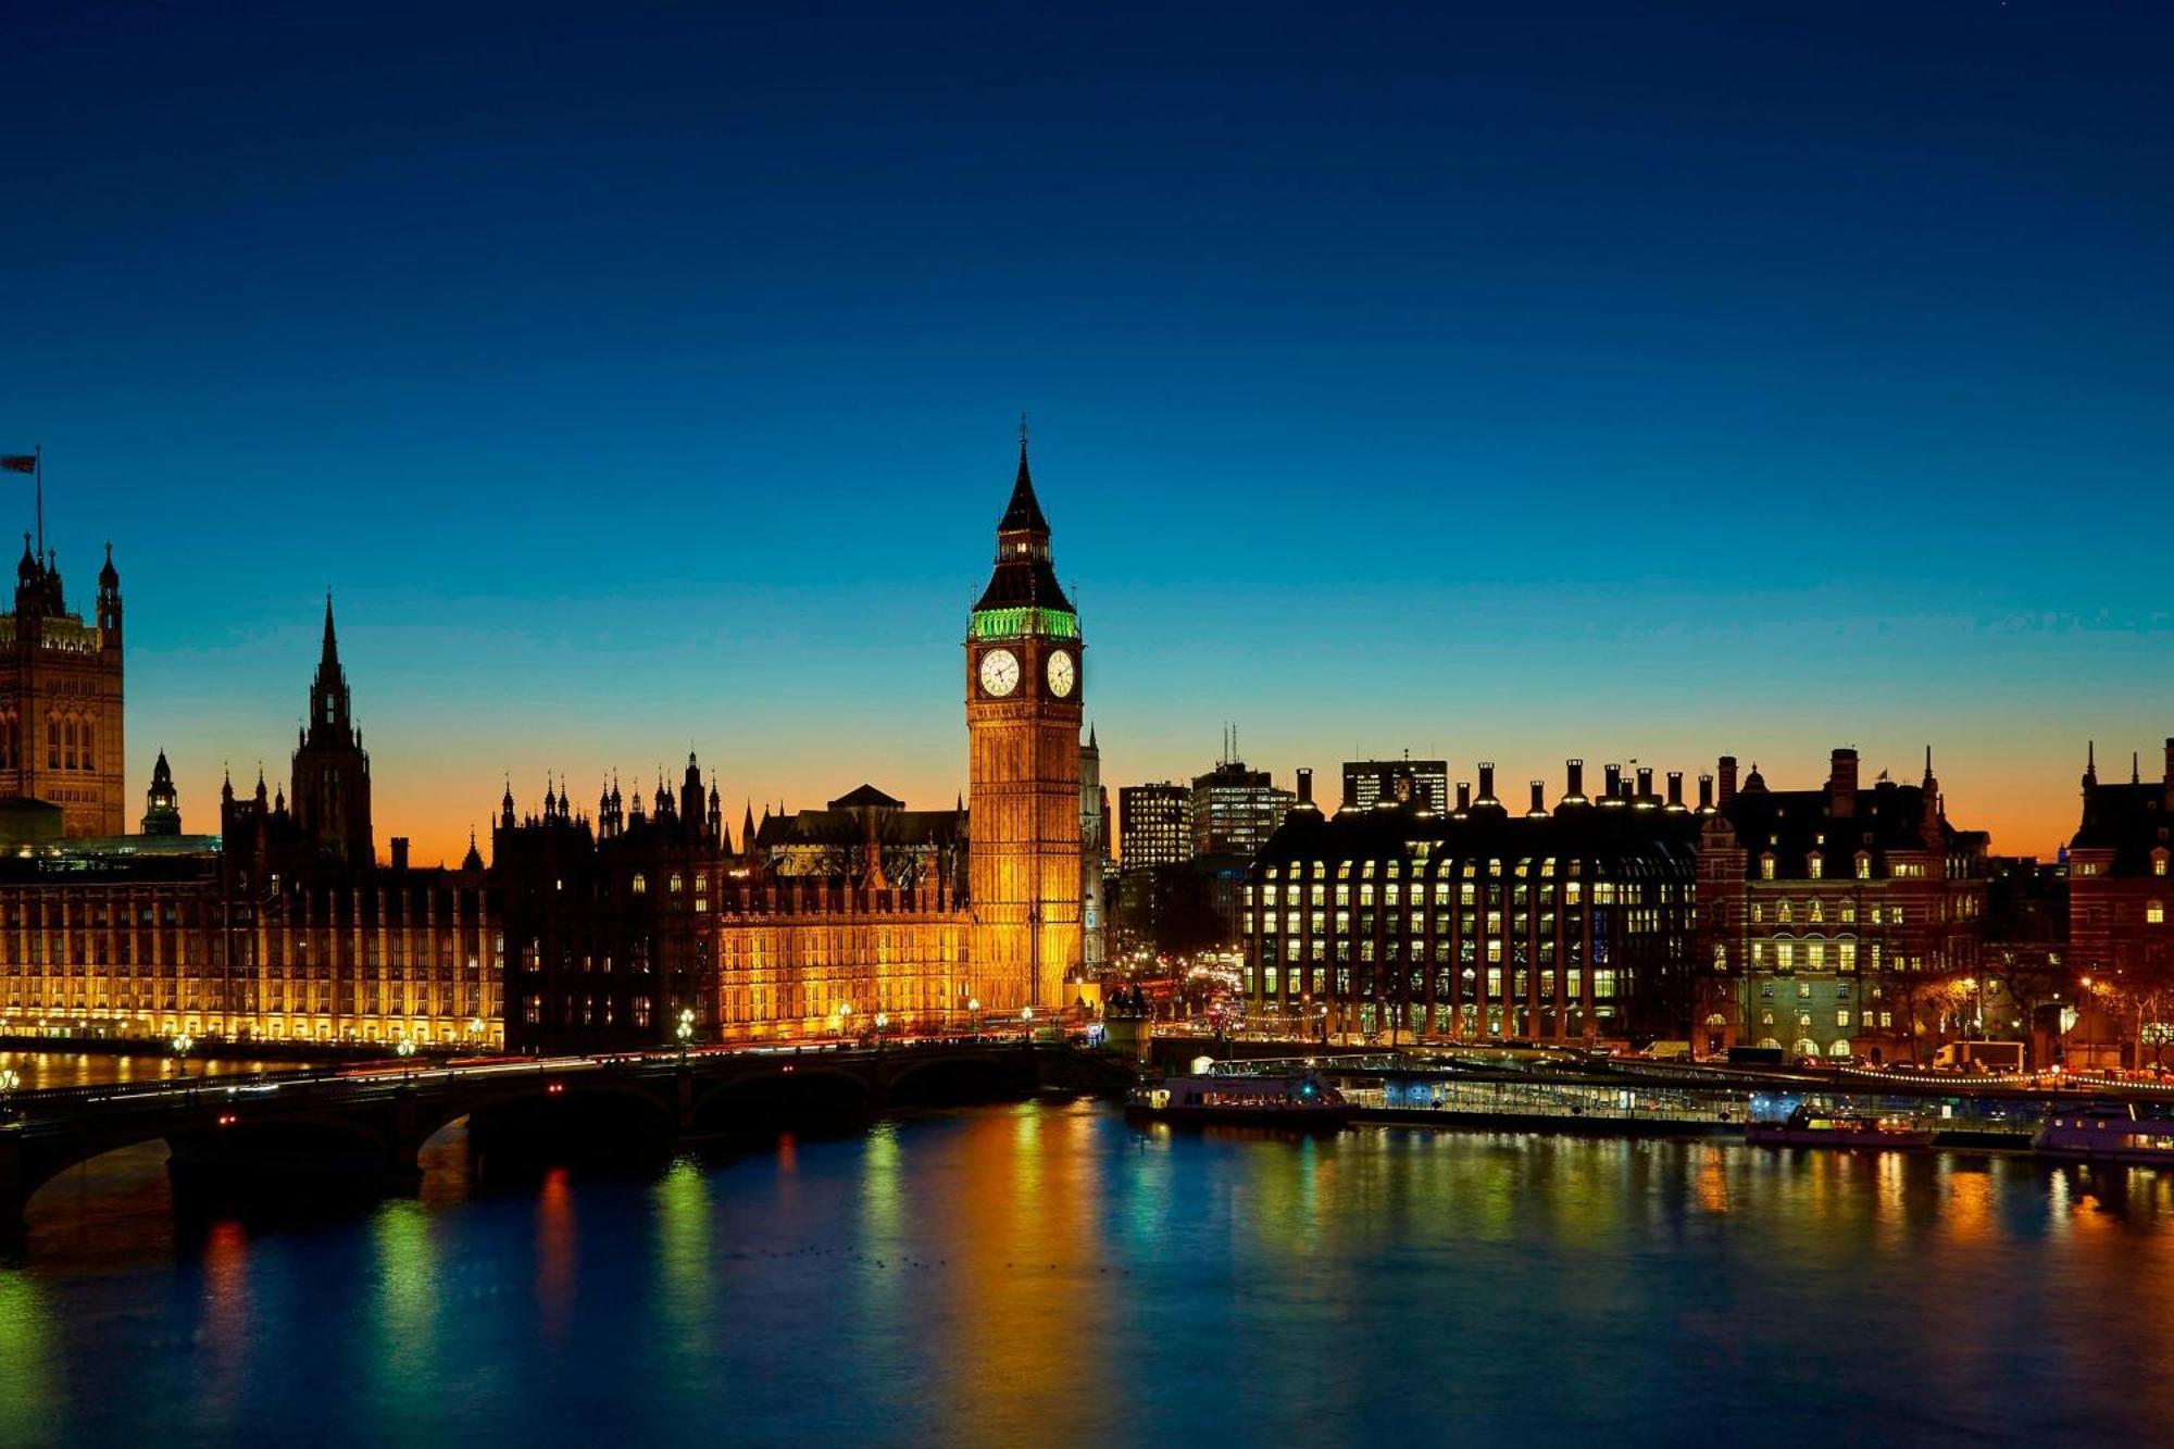
[[[313,716],[328,679],[339,681],[328,720],[341,722],[330,627]],[[252,796],[228,781],[220,835],[183,835],[161,755],[141,835],[54,840],[0,859],[0,1027],[496,1044],[500,936],[483,859],[470,851],[459,870],[411,868],[402,840],[389,866],[367,851],[350,857],[370,816],[367,796],[348,809],[354,796],[326,790],[341,775],[339,759],[298,751],[298,794],[315,790],[337,814],[304,820],[259,777]]]

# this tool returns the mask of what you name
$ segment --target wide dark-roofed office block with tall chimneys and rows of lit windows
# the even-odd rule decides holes
[[[1246,886],[1254,1025],[1387,1040],[1596,1040],[1667,1031],[1689,1005],[1698,814],[1650,790],[1509,809],[1494,766],[1448,814],[1417,798],[1324,816],[1298,803]]]

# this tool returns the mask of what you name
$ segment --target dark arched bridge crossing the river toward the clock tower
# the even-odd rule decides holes
[[[400,1192],[417,1153],[467,1120],[470,1151],[661,1155],[796,1116],[991,1101],[1041,1088],[1109,1090],[1109,1053],[1028,1038],[924,1038],[650,1051],[587,1057],[422,1060],[74,1086],[0,1097],[0,1258],[24,1249],[24,1208],[67,1168],[163,1140],[185,1192]]]

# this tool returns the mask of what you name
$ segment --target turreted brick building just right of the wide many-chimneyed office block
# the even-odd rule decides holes
[[[1933,757],[1902,785],[1857,779],[1770,790],[1720,761],[1698,842],[1700,1049],[1913,1060],[1974,1003],[1987,838],[1948,822]]]

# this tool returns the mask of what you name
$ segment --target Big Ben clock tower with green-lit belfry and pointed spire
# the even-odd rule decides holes
[[[1072,1003],[1080,964],[1080,622],[1050,566],[1026,474],[996,524],[996,570],[967,622],[967,905],[987,1012]]]

